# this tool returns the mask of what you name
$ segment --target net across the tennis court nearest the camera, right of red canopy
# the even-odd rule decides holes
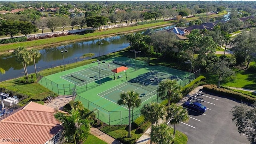
[[[157,87],[153,86],[152,84],[148,84],[146,82],[142,82],[140,80],[136,80],[136,79],[129,78],[129,77],[127,77],[127,80],[128,80],[127,83],[132,84],[134,86],[138,86],[144,90],[148,90],[150,92],[157,90]]]

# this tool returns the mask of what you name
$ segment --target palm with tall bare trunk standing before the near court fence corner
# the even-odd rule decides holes
[[[130,90],[127,92],[123,92],[120,94],[120,100],[117,101],[119,105],[126,104],[128,106],[129,111],[129,128],[128,128],[128,138],[131,137],[131,108],[139,107],[141,104],[141,100],[139,98],[140,94],[138,92],[134,92],[134,90]]]

